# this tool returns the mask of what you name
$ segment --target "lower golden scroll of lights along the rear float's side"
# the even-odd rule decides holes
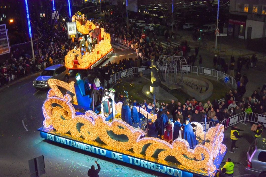
[[[93,51],[91,53],[86,52],[85,55],[81,55],[80,50],[70,50],[65,56],[65,65],[67,68],[73,68],[74,60],[78,60],[77,68],[87,68],[90,64],[97,61],[102,55],[106,55],[108,51],[111,50],[111,37],[108,33],[101,33],[103,35],[103,39],[95,45]],[[76,58],[75,56],[78,55]]]

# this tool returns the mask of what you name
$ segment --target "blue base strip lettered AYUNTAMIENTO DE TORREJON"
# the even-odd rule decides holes
[[[164,166],[164,165],[157,164],[154,162],[146,161],[143,159],[127,156],[127,155],[120,154],[118,152],[113,152],[107,149],[98,148],[98,147],[95,147],[89,144],[84,144],[84,143],[81,143],[75,140],[70,140],[70,139],[63,138],[57,135],[52,135],[52,134],[49,134],[43,131],[40,131],[40,134],[42,138],[55,141],[57,143],[65,144],[65,145],[75,147],[75,148],[78,148],[78,149],[81,149],[87,152],[99,154],[101,156],[105,156],[105,157],[112,158],[115,160],[130,163],[132,165],[140,166],[140,167],[150,169],[153,171],[161,172],[161,173],[168,174],[171,176],[176,176],[176,177],[193,177],[192,173],[181,171],[181,170],[178,170],[172,167],[168,167],[168,166]]]

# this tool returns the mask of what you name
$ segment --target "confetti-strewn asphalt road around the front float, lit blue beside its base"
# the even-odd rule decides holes
[[[133,54],[127,55],[130,53]],[[211,54],[205,55],[210,56]],[[114,56],[111,57],[112,61],[124,57],[136,57],[133,50],[118,49],[115,50]],[[85,153],[75,148],[49,143],[40,138],[40,133],[36,129],[42,126],[44,120],[42,105],[47,99],[47,91],[39,91],[32,86],[34,77],[36,76],[29,76],[0,91],[1,177],[30,176],[28,160],[40,155],[44,155],[45,159],[46,174],[43,176],[87,176],[87,170],[94,165],[94,160],[97,160],[102,167],[100,176],[163,176],[138,167],[124,166],[117,161]],[[245,133],[250,136],[250,126],[241,125],[241,128],[245,129]],[[227,147],[231,143],[229,131],[225,132],[224,143]],[[226,157],[231,157],[234,162],[238,162],[235,167],[236,176],[246,174],[244,171],[245,153],[249,147],[249,141],[251,141],[249,138],[239,140],[238,151],[235,154],[226,154]]]

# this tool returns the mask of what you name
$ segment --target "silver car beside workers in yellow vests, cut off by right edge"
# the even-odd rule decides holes
[[[246,171],[257,177],[266,176],[266,138],[256,138],[247,152]]]

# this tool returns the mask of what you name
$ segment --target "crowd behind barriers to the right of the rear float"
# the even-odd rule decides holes
[[[167,41],[167,48],[164,50],[161,42],[156,44],[158,40],[158,32],[156,30],[150,31],[149,29],[145,29],[143,27],[139,27],[136,24],[129,24],[127,28],[126,24],[119,24],[114,17],[110,17],[106,21],[98,22],[97,20],[93,20],[93,22],[100,26],[100,28],[104,28],[106,32],[111,35],[111,39],[114,41],[118,41],[118,39],[122,39],[124,42],[127,42],[129,45],[133,44],[136,50],[136,53],[141,53],[141,56],[147,59],[151,59],[152,57],[155,60],[158,60],[160,55],[178,55],[184,56],[194,64],[192,55],[189,55],[190,47],[187,41],[181,43],[181,45],[173,47],[171,45],[171,39],[174,38],[174,33],[171,31],[165,30],[164,37],[165,41]],[[198,55],[198,47],[195,48],[195,54]],[[188,62],[190,63],[190,62]]]

